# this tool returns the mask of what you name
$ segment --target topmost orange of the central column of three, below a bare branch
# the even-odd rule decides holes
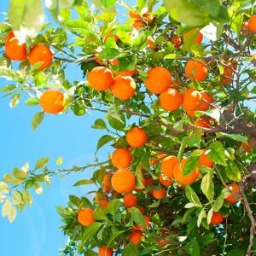
[[[126,141],[133,148],[143,147],[148,141],[147,133],[143,128],[133,127],[126,133]]]

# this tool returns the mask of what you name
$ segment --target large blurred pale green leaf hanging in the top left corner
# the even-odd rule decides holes
[[[44,25],[43,2],[38,0],[10,0],[9,20],[12,29],[26,32],[32,38]]]

